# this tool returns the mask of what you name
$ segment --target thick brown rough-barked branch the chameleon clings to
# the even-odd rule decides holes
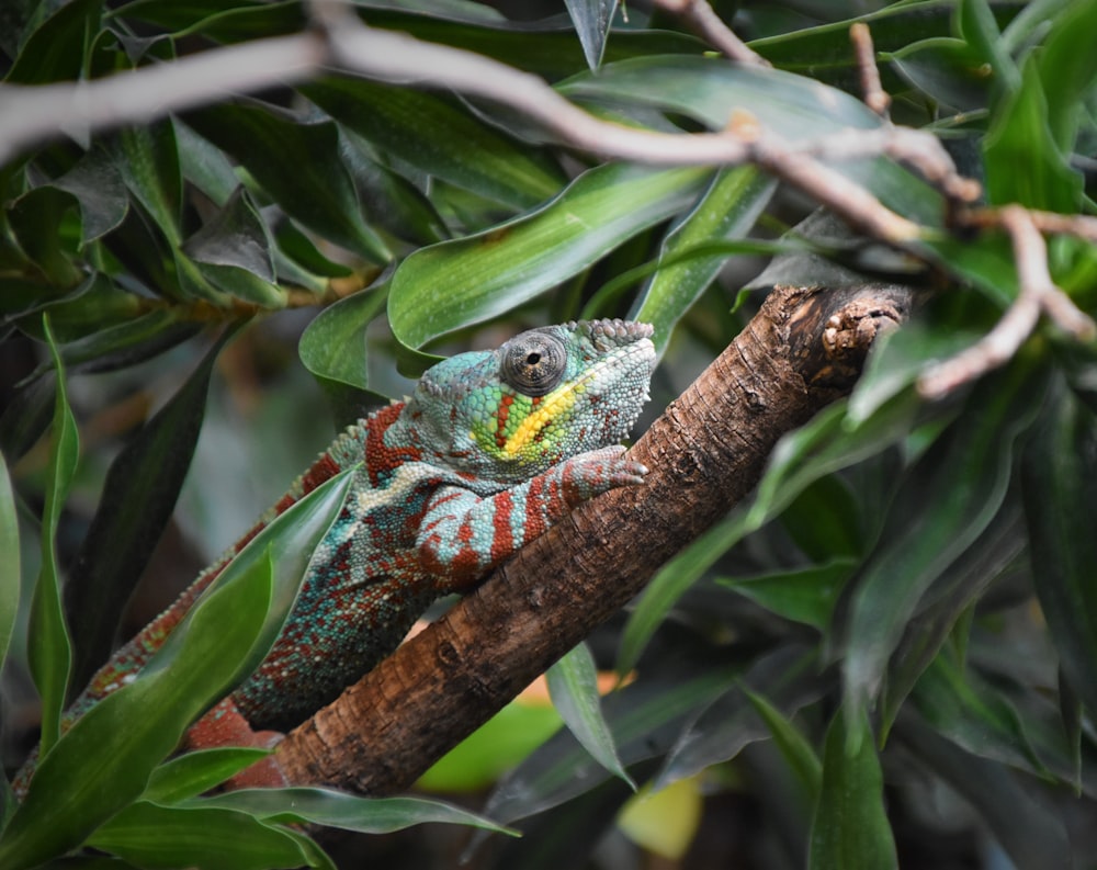
[[[911,291],[778,287],[635,444],[646,483],[572,513],[275,754],[294,783],[410,786],[742,500],[778,439],[845,395]]]

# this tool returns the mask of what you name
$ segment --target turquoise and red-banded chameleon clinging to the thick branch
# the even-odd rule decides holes
[[[471,590],[587,499],[643,483],[647,468],[624,459],[619,442],[648,399],[652,332],[627,320],[573,321],[428,369],[405,402],[339,434],[255,528],[123,645],[67,721],[135,679],[275,516],[354,468],[270,652],[184,741],[272,745],[392,653],[436,599]],[[26,775],[20,780],[25,787]],[[268,767],[238,784],[282,783]]]

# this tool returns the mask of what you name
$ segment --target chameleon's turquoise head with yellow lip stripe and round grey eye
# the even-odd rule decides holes
[[[524,479],[627,434],[648,398],[651,335],[627,320],[531,329],[430,369],[406,416],[423,452],[446,465]]]

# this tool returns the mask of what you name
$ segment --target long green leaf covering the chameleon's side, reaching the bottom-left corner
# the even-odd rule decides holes
[[[352,474],[337,475],[272,520],[226,566],[140,677],[95,703],[41,758],[0,839],[4,868],[29,867],[83,841],[144,791],[190,723],[255,670],[293,606],[313,550],[342,507]]]

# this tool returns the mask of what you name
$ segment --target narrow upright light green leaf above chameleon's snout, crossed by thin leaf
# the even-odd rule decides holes
[[[766,207],[777,183],[751,166],[722,170],[701,201],[663,241],[659,260],[667,260],[715,239],[745,236]],[[675,324],[719,274],[726,257],[681,260],[658,269],[633,303],[630,319],[655,326],[653,341],[660,353]]]

